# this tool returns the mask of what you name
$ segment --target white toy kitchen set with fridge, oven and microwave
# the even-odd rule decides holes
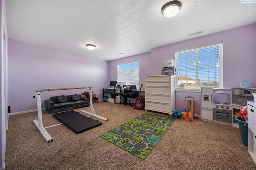
[[[238,127],[234,119],[248,101],[254,101],[255,88],[201,88],[201,120]]]

